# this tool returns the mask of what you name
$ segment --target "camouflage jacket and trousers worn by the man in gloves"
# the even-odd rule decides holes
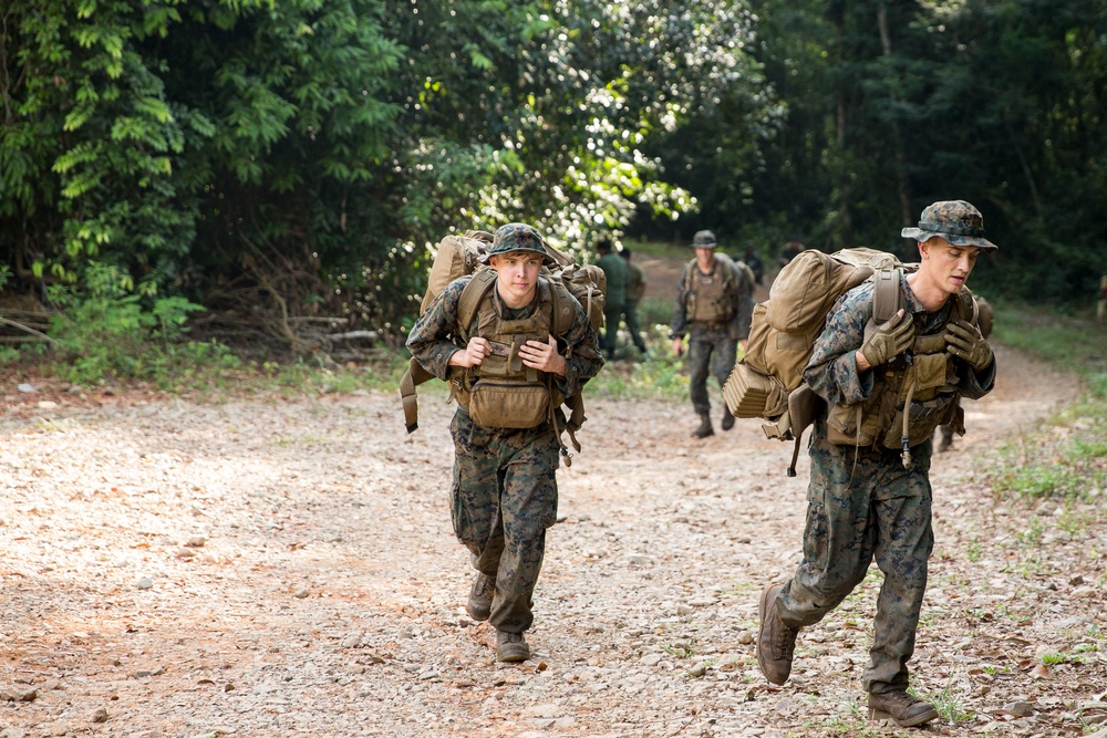
[[[928,313],[906,279],[900,288],[917,333],[941,332],[955,298]],[[872,312],[872,289],[867,282],[842,295],[815,343],[804,380],[824,399],[856,403],[873,391],[878,372],[860,375],[855,360]],[[961,363],[956,374],[963,396],[976,399],[992,389],[995,362],[979,376]],[[780,591],[776,606],[788,625],[817,623],[865,579],[876,559],[884,581],[862,680],[872,693],[903,689],[933,550],[931,440],[911,447],[911,464],[904,468],[894,450],[830,444],[826,417],[824,410],[810,441],[804,561]]]

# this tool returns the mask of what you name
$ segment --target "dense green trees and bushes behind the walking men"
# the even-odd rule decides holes
[[[10,0],[0,283],[74,356],[186,325],[308,354],[332,318],[400,339],[451,230],[526,220],[587,257],[711,227],[772,258],[901,248],[964,198],[1001,245],[975,283],[1079,306],[1107,272],[1105,11]]]

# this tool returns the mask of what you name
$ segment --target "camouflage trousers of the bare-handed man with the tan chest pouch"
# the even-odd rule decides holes
[[[546,529],[557,519],[558,445],[549,424],[532,429],[484,428],[458,407],[451,518],[473,567],[496,580],[488,622],[523,633],[534,622],[535,585]]]

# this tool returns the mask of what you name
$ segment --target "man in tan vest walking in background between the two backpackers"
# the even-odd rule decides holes
[[[703,266],[693,261],[684,268],[677,283],[673,318],[669,324],[669,337],[673,342],[675,355],[682,353],[684,336],[689,336],[689,395],[692,408],[700,416],[700,425],[692,432],[696,438],[715,433],[711,425],[707,376],[714,376],[720,387],[726,383],[738,355],[738,342],[749,336],[749,323],[753,319],[751,285],[733,261],[714,252],[717,246],[715,235],[710,230],[702,230],[693,237],[692,248],[697,250],[696,261],[700,260],[699,252],[708,252],[705,261],[710,266],[705,271]],[[712,287],[722,290],[716,293],[721,312],[717,311],[717,318],[700,320],[697,314],[703,294],[697,295],[696,291]],[[696,298],[700,298],[700,304],[696,304]],[[734,416],[725,402],[722,426],[723,430],[734,427]]]

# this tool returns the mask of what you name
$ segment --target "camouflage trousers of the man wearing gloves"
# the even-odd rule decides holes
[[[835,446],[826,439],[825,419],[816,424],[804,561],[776,603],[788,625],[813,625],[865,579],[876,559],[884,580],[862,674],[871,693],[907,688],[934,548],[931,441],[911,453],[906,469],[898,451]]]

